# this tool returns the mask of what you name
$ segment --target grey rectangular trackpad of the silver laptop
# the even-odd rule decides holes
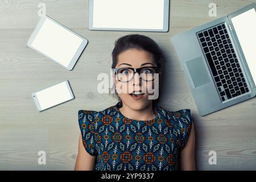
[[[186,64],[195,87],[210,82],[210,78],[201,57],[187,61]]]

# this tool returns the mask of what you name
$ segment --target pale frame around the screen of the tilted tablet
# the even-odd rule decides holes
[[[38,35],[38,32],[40,30],[40,28],[43,26],[43,23],[46,19],[51,20],[52,22],[55,22],[56,24],[58,24],[59,26],[65,28],[65,30],[71,32],[72,34],[78,36],[79,38],[82,39],[82,43],[80,44],[80,47],[77,49],[75,55],[73,56],[72,60],[70,61],[68,67],[65,67],[63,64],[59,63],[57,60],[52,59],[51,57],[47,56],[46,54],[40,52],[38,49],[34,48],[31,46],[32,42],[34,41],[36,35]],[[67,27],[63,26],[62,24],[56,22],[55,20],[53,20],[52,18],[50,18],[49,16],[45,15],[42,16],[42,18],[40,18],[35,30],[32,32],[32,35],[30,36],[30,38],[28,39],[27,42],[27,46],[34,49],[35,51],[41,53],[42,55],[46,56],[48,59],[54,61],[55,63],[59,64],[61,67],[68,69],[69,71],[71,71],[73,69],[73,67],[75,66],[77,60],[79,59],[79,57],[81,56],[82,51],[84,51],[84,48],[86,47],[86,45],[88,44],[88,40],[86,40],[85,38],[82,38],[82,36],[76,34],[75,32],[73,32],[72,30],[69,30]]]

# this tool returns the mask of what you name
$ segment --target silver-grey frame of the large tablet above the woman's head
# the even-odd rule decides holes
[[[111,31],[149,31],[149,32],[168,32],[169,31],[169,11],[170,11],[170,0],[164,0],[164,18],[163,18],[163,29],[136,29],[136,28],[95,28],[93,27],[93,1],[89,0],[88,4],[88,28],[89,30],[111,30]]]

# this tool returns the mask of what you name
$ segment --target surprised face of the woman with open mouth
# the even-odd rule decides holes
[[[118,63],[115,68],[142,68],[141,78],[137,72],[134,73],[133,78],[128,82],[121,82],[119,80],[120,78],[122,80],[122,78],[130,77],[128,76],[130,74],[133,75],[131,69],[120,69],[120,72],[118,72],[119,77],[115,75],[115,87],[118,96],[121,98],[123,104],[133,110],[142,110],[152,104],[152,100],[149,100],[148,96],[152,93],[152,89],[154,89],[155,81],[158,81],[156,79],[151,81],[150,77],[146,75],[150,75],[148,73],[153,69],[144,69],[144,67],[157,67],[153,55],[150,52],[141,49],[129,49],[118,55]],[[148,92],[148,90],[151,91]]]

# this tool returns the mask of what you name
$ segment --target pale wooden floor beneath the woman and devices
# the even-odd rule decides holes
[[[170,31],[121,32],[88,30],[88,1],[55,0],[46,14],[88,39],[73,71],[67,71],[26,46],[38,23],[35,0],[0,0],[0,169],[73,170],[77,155],[79,109],[103,110],[116,100],[97,93],[98,73],[110,74],[114,41],[127,34],[143,34],[164,50],[164,82],[160,105],[168,110],[192,110],[199,170],[256,169],[256,98],[201,117],[189,92],[172,35],[228,15],[251,1],[213,1],[217,16],[208,15],[212,1],[171,0]],[[75,100],[39,113],[31,93],[69,80]],[[38,164],[46,151],[46,165]],[[209,151],[217,164],[208,163]]]

